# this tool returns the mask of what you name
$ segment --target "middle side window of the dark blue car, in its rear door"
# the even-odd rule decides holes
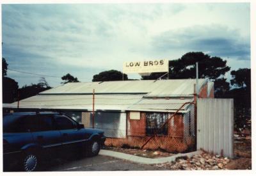
[[[39,130],[40,131],[52,131],[56,130],[52,115],[39,115]]]

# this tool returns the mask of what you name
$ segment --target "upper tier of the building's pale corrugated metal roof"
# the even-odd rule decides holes
[[[40,94],[84,93],[148,93],[148,96],[191,96],[194,93],[195,79],[164,79],[138,81],[105,81],[92,83],[67,83]],[[198,80],[199,87],[206,79]]]

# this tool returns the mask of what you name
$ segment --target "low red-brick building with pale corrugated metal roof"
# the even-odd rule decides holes
[[[166,141],[168,136],[179,139],[179,144],[186,143],[185,147],[181,147],[183,149],[179,149],[182,151],[187,150],[188,143],[195,140],[195,84],[195,79],[67,83],[20,100],[19,108],[18,102],[6,104],[4,110],[60,111],[85,127],[102,129],[109,138],[106,145],[140,147],[148,136],[152,136],[180,109],[157,132],[157,136],[162,141]],[[214,84],[211,81],[198,79],[198,88],[200,97],[214,98]],[[148,146],[157,148],[150,147],[150,144]],[[170,145],[160,148],[175,150]]]

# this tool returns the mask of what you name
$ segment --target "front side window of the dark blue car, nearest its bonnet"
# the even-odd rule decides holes
[[[77,124],[65,115],[54,115],[59,129],[76,129]]]

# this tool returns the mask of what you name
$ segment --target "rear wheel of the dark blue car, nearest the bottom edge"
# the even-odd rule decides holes
[[[34,153],[26,153],[22,159],[22,170],[26,172],[35,171],[38,166],[38,157]]]

